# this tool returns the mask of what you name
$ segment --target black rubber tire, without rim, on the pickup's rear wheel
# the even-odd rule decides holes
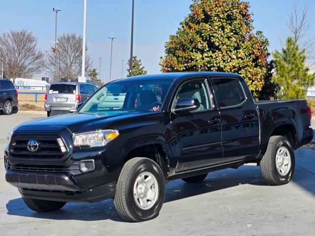
[[[287,148],[290,154],[291,167],[289,168],[289,171],[286,175],[281,175],[278,172],[276,165],[277,152],[281,147]],[[265,181],[270,185],[286,184],[293,177],[294,167],[294,148],[292,147],[290,141],[284,136],[272,136],[269,139],[267,151],[260,161],[260,170]]]

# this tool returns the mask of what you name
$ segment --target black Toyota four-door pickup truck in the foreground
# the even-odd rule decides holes
[[[32,210],[113,198],[125,220],[149,220],[173,179],[257,163],[267,183],[286,184],[294,149],[313,138],[305,100],[254,102],[238,74],[131,77],[79,105],[8,134],[5,178]]]

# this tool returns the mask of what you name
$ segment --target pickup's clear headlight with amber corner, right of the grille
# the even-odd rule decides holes
[[[102,147],[114,140],[119,135],[118,130],[106,129],[86,133],[74,134],[72,136],[74,146]]]

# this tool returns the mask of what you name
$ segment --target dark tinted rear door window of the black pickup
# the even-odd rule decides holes
[[[246,100],[243,87],[238,79],[212,79],[212,82],[221,108],[237,106]]]

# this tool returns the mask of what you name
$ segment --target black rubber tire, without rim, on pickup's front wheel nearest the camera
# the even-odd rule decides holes
[[[141,173],[149,172],[158,183],[158,197],[149,209],[140,208],[134,198],[133,187]],[[156,162],[149,158],[135,157],[126,162],[116,185],[115,207],[120,216],[132,222],[151,220],[158,216],[165,197],[165,179]]]

